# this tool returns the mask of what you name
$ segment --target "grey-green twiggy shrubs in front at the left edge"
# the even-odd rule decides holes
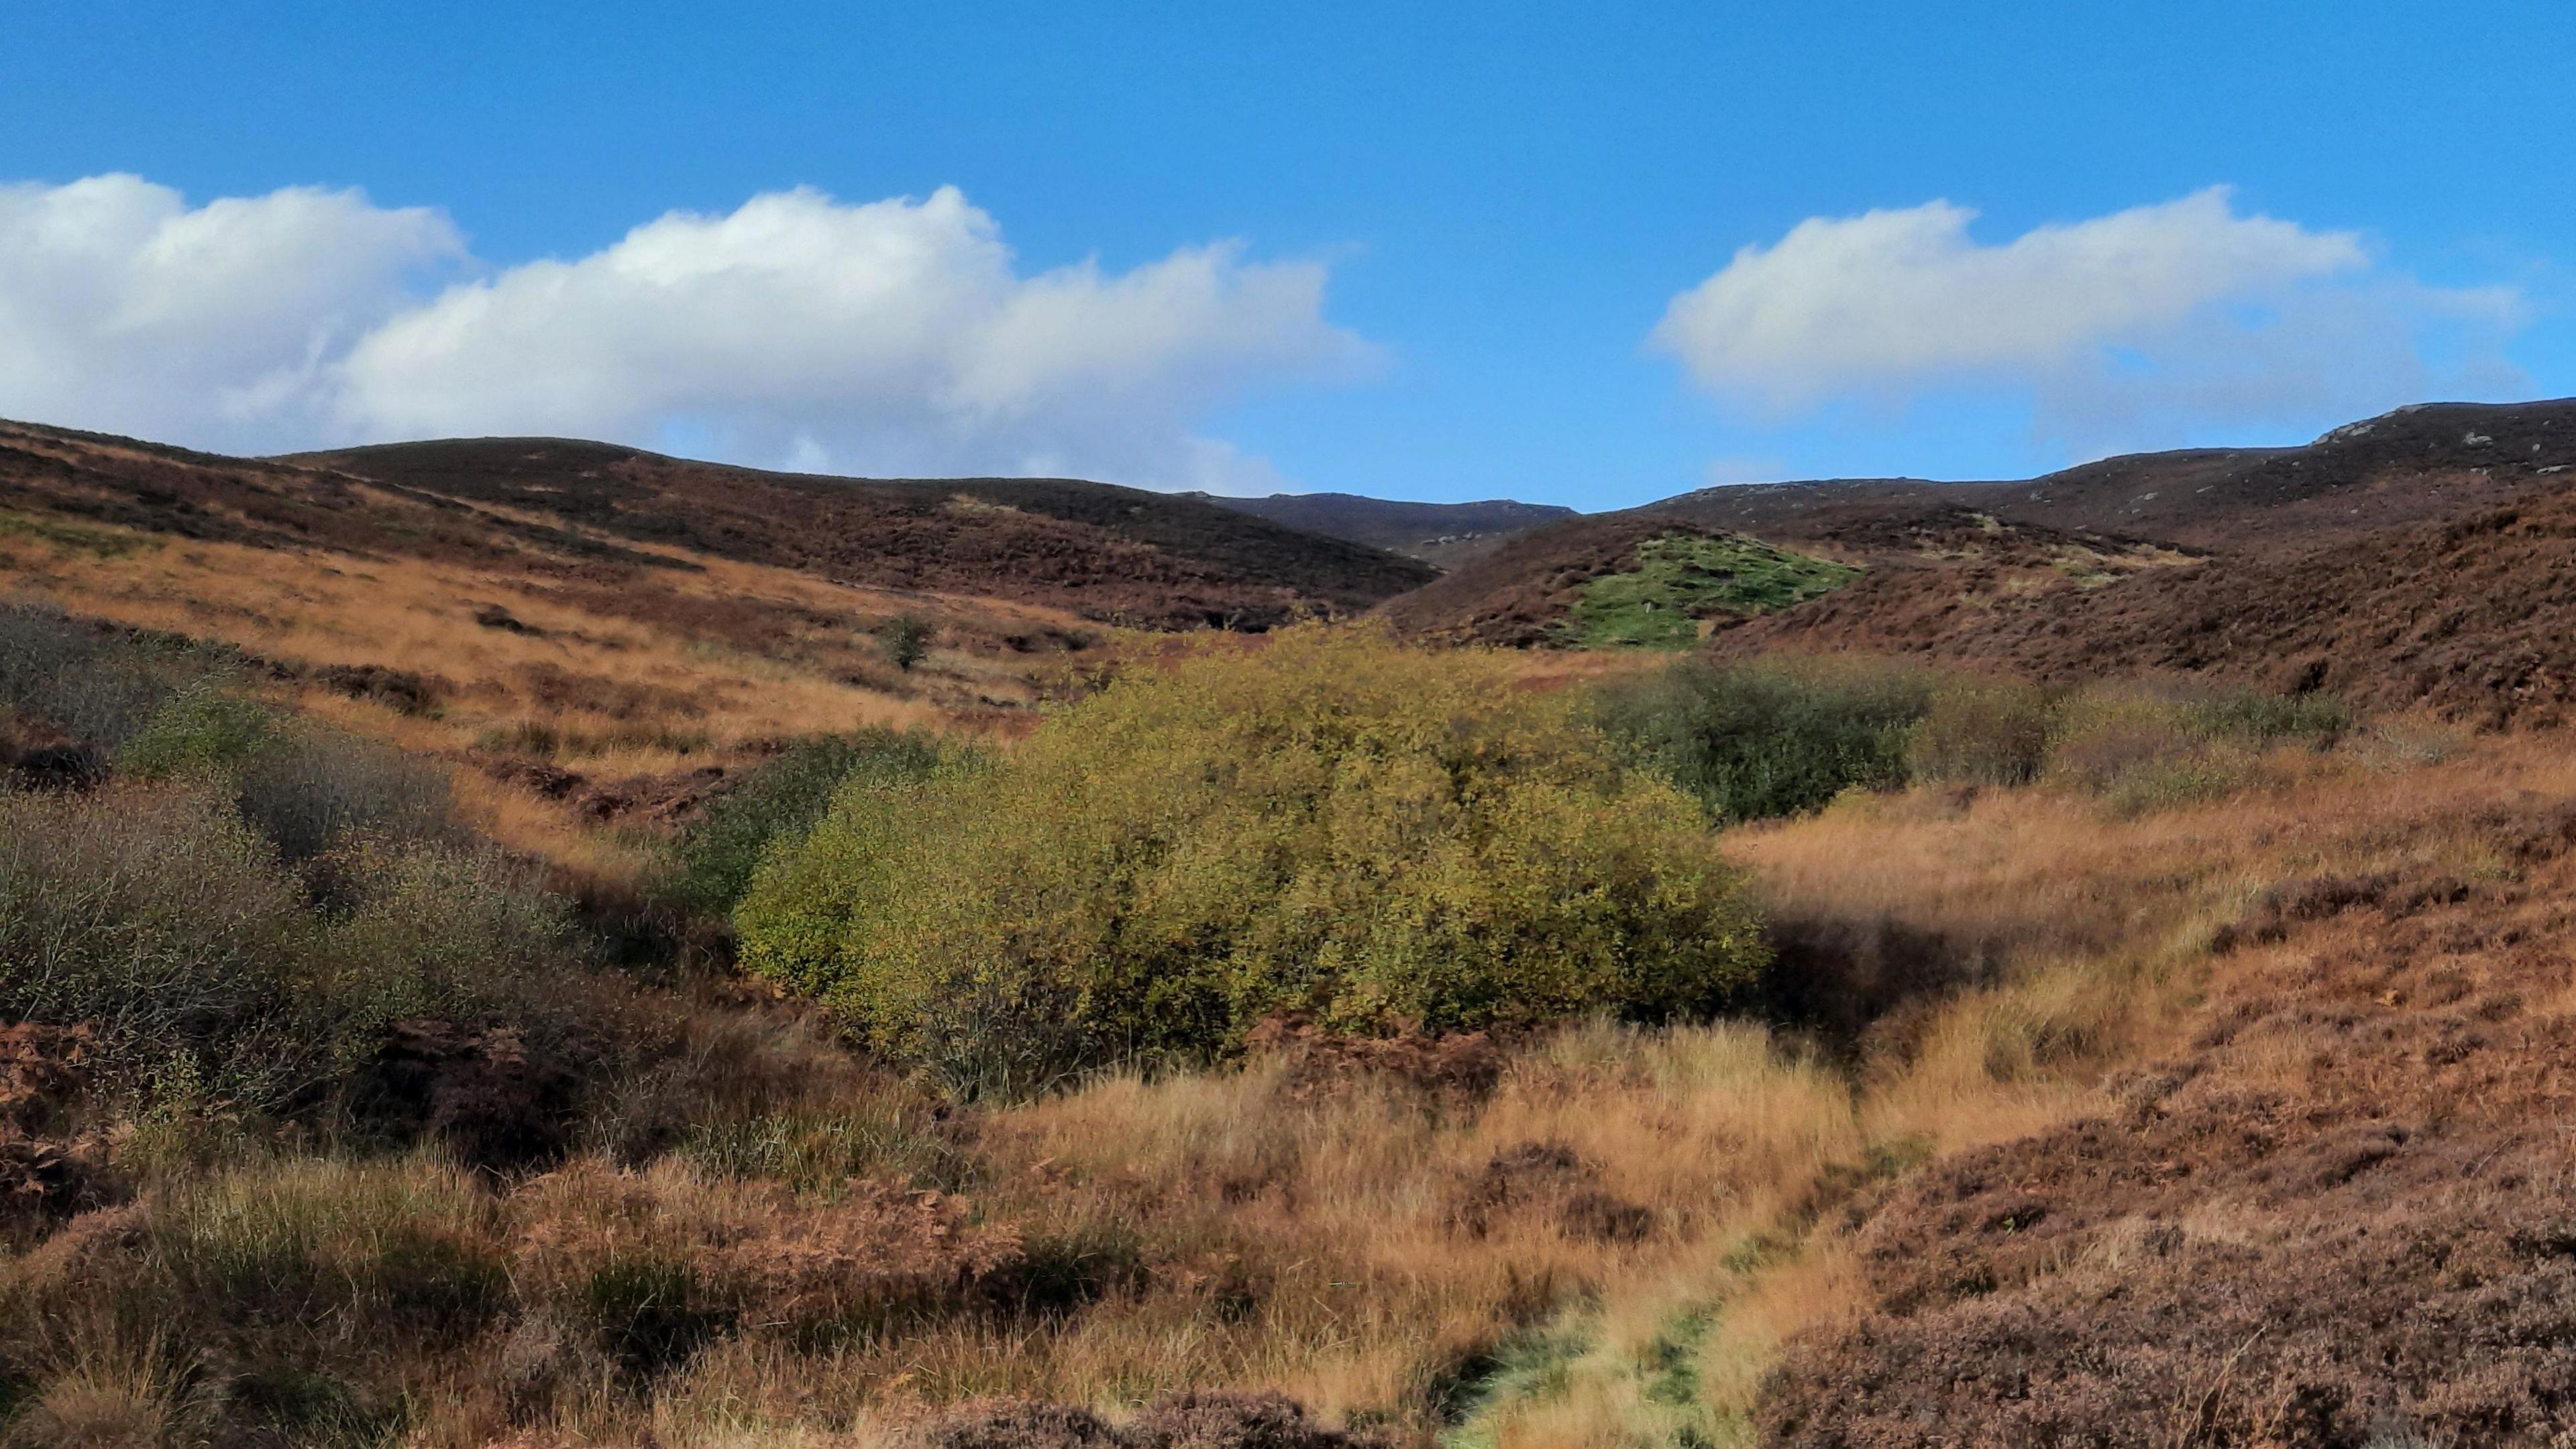
[[[487,848],[361,841],[317,905],[224,781],[0,794],[0,1021],[88,1026],[111,1088],[314,1101],[407,1016],[562,1039],[559,897]]]

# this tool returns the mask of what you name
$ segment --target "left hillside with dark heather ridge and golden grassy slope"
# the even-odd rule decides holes
[[[595,859],[781,740],[1020,730],[1146,629],[1352,611],[1427,565],[1072,480],[824,480],[567,441],[229,459],[0,423],[0,601],[237,650]],[[902,660],[896,629],[927,629]],[[0,740],[5,748],[8,740]]]

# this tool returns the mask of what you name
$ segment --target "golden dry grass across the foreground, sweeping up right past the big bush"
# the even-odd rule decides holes
[[[1783,1341],[1865,1307],[1844,1204],[1929,1155],[2097,1109],[2107,1070],[2184,1031],[2215,977],[2254,969],[2259,954],[2208,941],[2264,887],[2393,859],[2494,871],[2434,802],[2576,792],[2576,763],[2514,740],[2403,773],[2365,758],[2293,773],[2143,817],[2071,792],[1914,792],[1739,833],[1785,918],[1973,957],[1942,977],[1968,985],[1880,1021],[1857,1060],[1754,1024],[1595,1024],[1499,1049],[1484,1088],[1273,1055],[940,1119],[814,1042],[711,1026],[693,1070],[768,1085],[636,1176],[592,1158],[469,1209],[428,1160],[286,1158],[147,1199],[157,1222],[193,1225],[149,1240],[167,1256],[265,1222],[270,1258],[343,1276],[404,1232],[505,1261],[492,1328],[404,1348],[392,1372],[422,1444],[881,1441],[963,1397],[1123,1413],[1175,1387],[1283,1390],[1406,1439],[1728,1441]],[[940,1196],[922,1207],[902,1183]],[[335,1212],[350,1227],[296,1227]],[[2192,1230],[2228,1222],[2213,1207]],[[616,1253],[752,1287],[639,1379],[580,1330],[585,1274]],[[961,1253],[979,1263],[963,1276],[920,1266]],[[59,1258],[10,1271],[36,1287],[23,1274]],[[858,1328],[799,1328],[814,1315],[796,1305],[866,1299],[894,1281],[881,1269],[951,1287]],[[52,1359],[44,1413],[180,1413],[147,1348],[100,1325],[90,1351]]]

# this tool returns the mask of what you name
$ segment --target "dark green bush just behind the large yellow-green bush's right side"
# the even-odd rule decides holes
[[[1906,784],[1932,681],[1893,665],[1682,660],[1600,688],[1600,722],[1710,820],[1821,810],[1844,789]]]

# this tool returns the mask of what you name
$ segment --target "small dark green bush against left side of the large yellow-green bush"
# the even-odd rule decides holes
[[[706,804],[706,815],[680,838],[672,890],[701,910],[732,910],[750,890],[762,851],[773,841],[804,838],[845,779],[894,784],[930,773],[938,761],[938,740],[917,732],[860,730],[799,740]]]

